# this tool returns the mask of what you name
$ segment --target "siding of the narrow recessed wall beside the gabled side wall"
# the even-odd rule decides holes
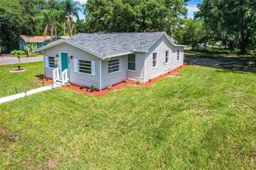
[[[140,79],[142,82],[144,79],[144,61],[145,53],[135,53],[135,71],[127,70],[127,79],[136,81]],[[126,64],[128,63],[128,57],[126,57]]]

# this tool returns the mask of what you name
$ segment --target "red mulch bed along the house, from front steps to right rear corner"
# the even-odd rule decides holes
[[[121,82],[121,83],[118,83],[115,86],[113,86],[110,90],[109,89],[104,89],[102,91],[93,91],[93,92],[91,92],[90,89],[88,89],[88,90],[87,90],[87,88],[80,89],[78,86],[74,86],[74,85],[62,86],[62,88],[73,89],[73,90],[76,90],[77,92],[84,92],[85,94],[92,95],[92,96],[103,96],[103,95],[106,95],[110,91],[114,91],[114,90],[121,89],[121,88],[125,87],[126,84],[133,84],[133,85],[138,85],[138,86],[150,86],[150,85],[154,84],[156,81],[161,80],[164,77],[167,77],[168,75],[171,75],[175,72],[178,72],[179,70],[183,69],[184,67],[186,67],[186,65],[181,65],[181,66],[177,67],[177,69],[172,70],[170,73],[165,73],[165,74],[162,75],[162,77],[156,77],[154,79],[151,79],[151,81],[147,81],[145,83],[137,84],[136,82],[133,82],[133,81],[128,81],[126,83]]]

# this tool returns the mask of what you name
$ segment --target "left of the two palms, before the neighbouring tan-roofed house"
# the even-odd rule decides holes
[[[57,10],[44,10],[41,15],[37,16],[40,26],[44,28],[44,38],[46,39],[47,30],[50,30],[50,42],[52,43],[53,35],[57,38],[57,27],[59,24],[59,12]]]

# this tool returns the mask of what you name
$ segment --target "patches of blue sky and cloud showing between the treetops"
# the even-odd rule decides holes
[[[87,2],[87,0],[76,0],[81,4],[85,4]],[[196,4],[202,2],[202,0],[190,0],[188,2],[188,18],[194,18],[194,12],[198,11]],[[83,11],[78,12],[79,18],[80,19],[84,19],[84,14]]]

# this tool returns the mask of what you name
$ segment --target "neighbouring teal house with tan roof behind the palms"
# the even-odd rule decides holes
[[[51,36],[24,36],[20,35],[18,38],[19,49],[25,50],[29,43],[35,44],[36,48],[40,48],[50,43]],[[57,36],[53,37],[52,41],[59,39],[68,39],[69,36]]]

